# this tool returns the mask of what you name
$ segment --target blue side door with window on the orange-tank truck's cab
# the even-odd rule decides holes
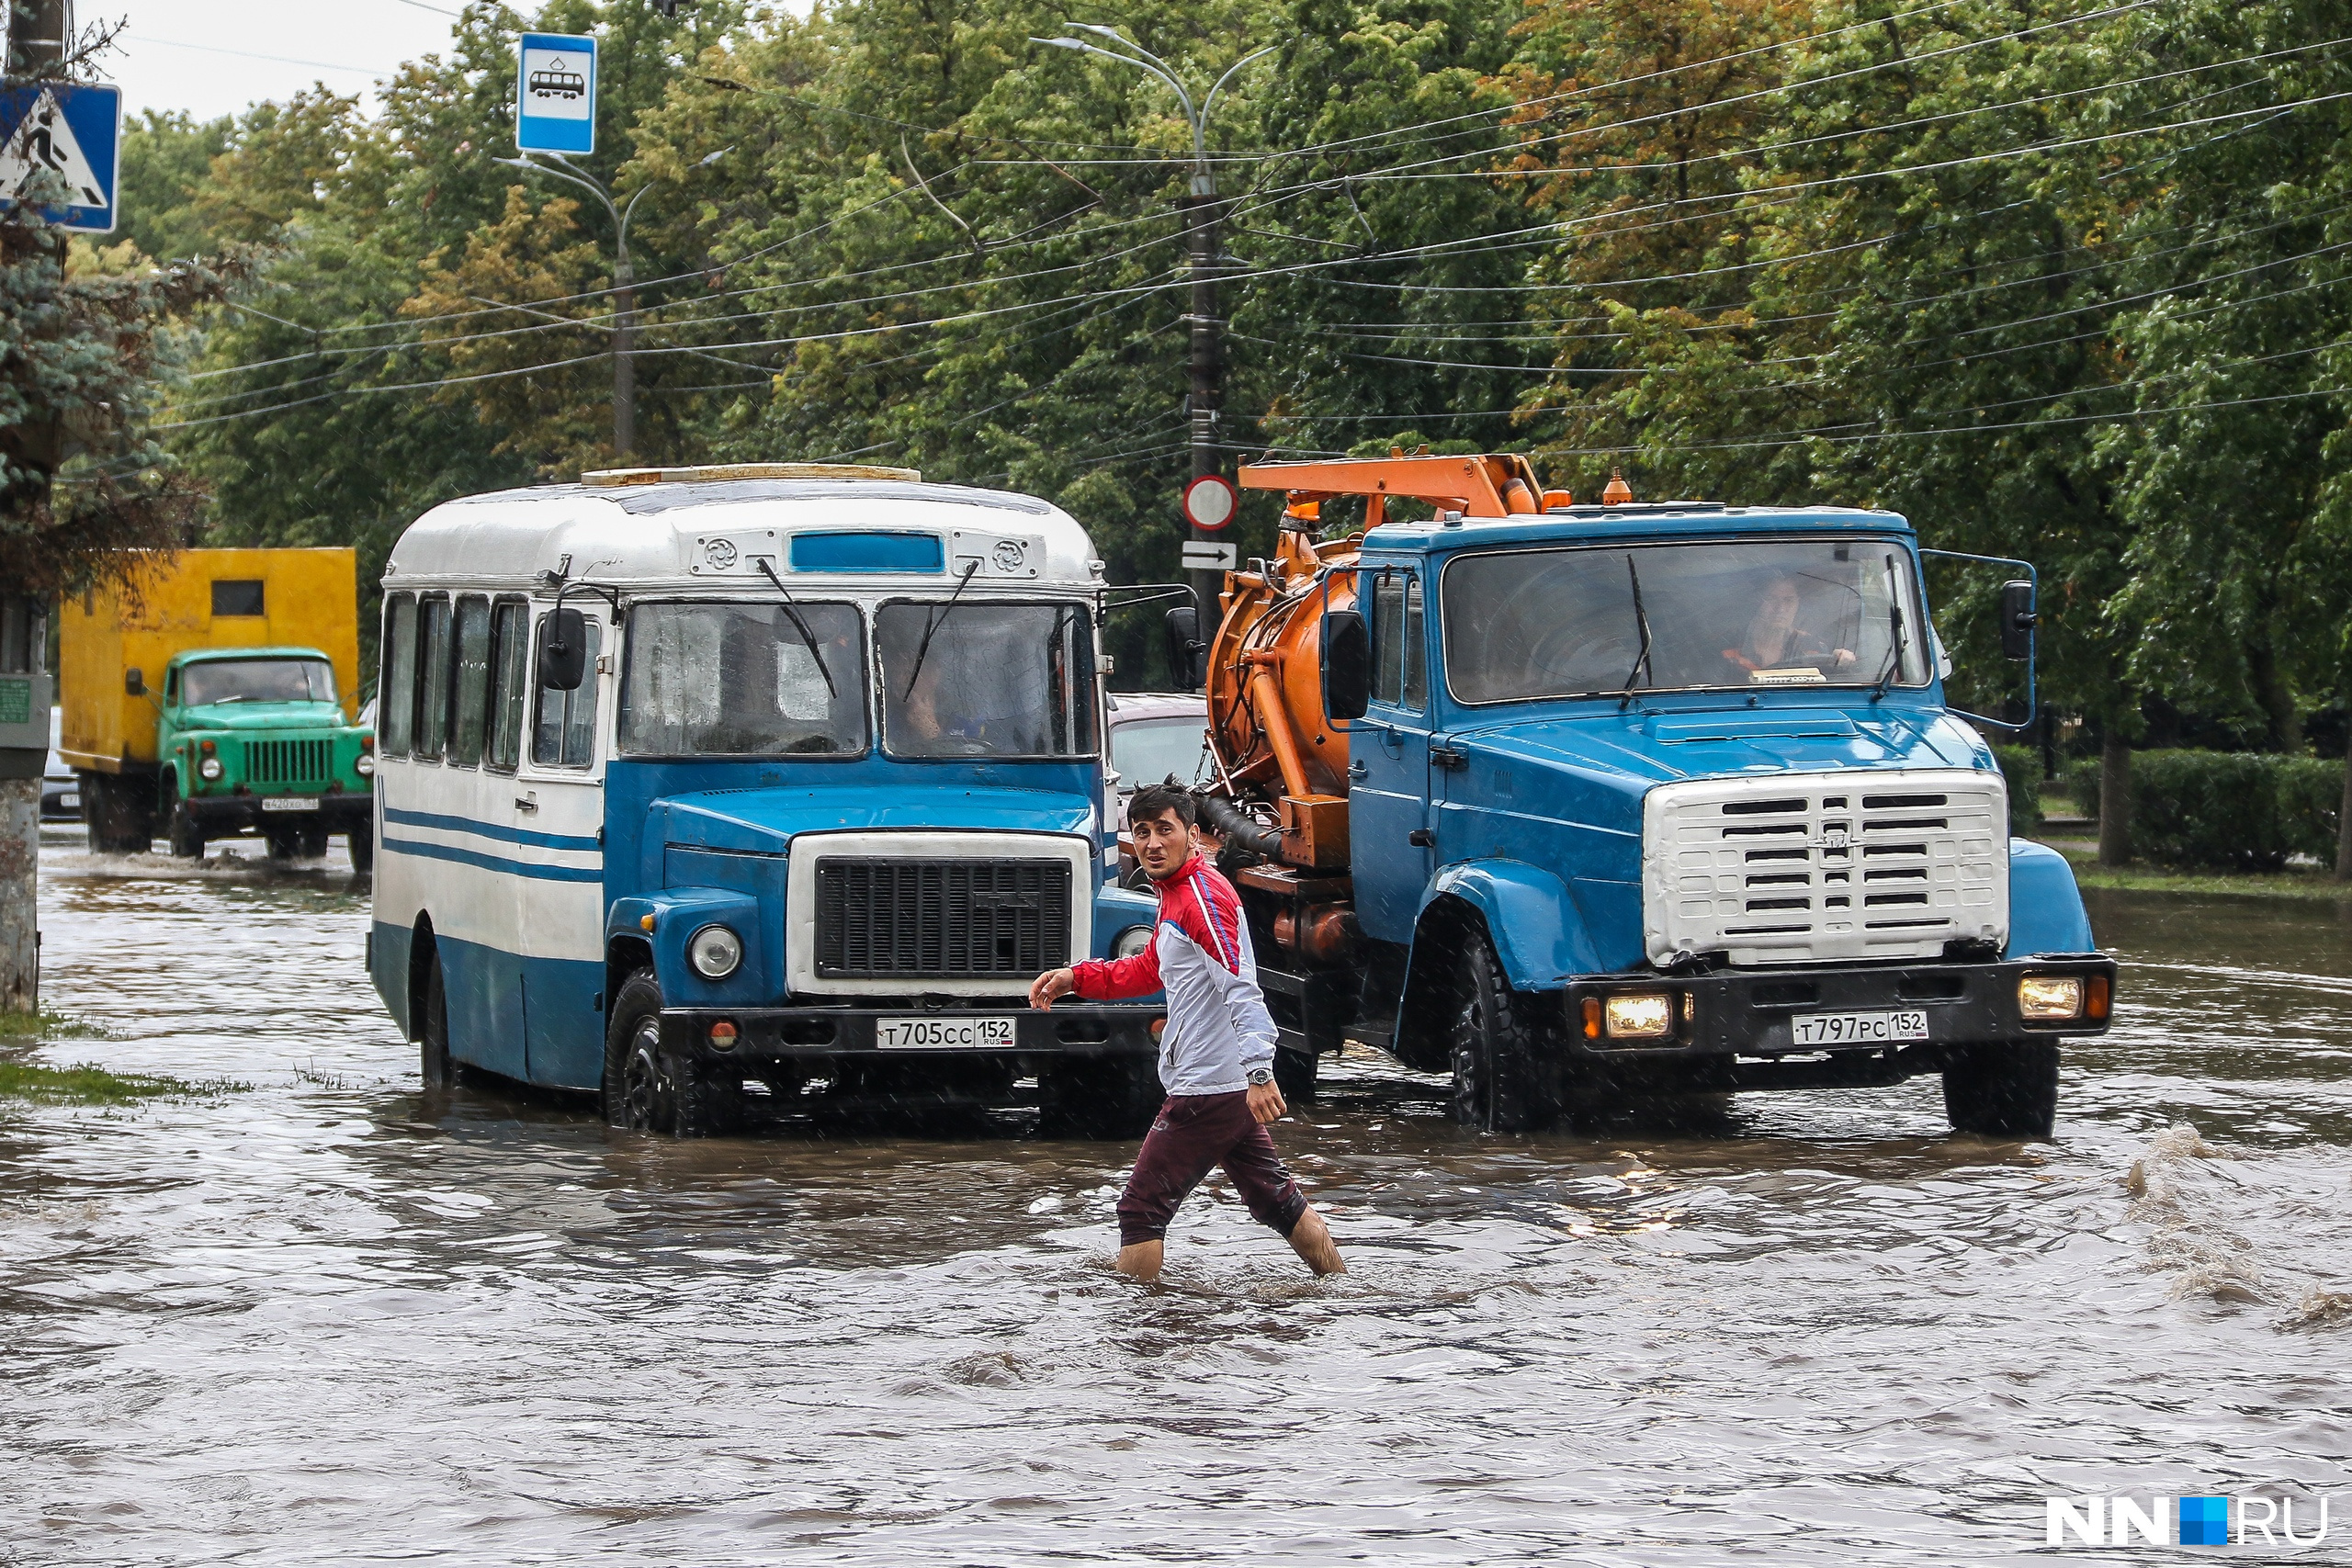
[[[1430,677],[1421,576],[1376,567],[1371,581],[1371,705],[1348,733],[1348,842],[1364,936],[1409,943],[1430,849]]]

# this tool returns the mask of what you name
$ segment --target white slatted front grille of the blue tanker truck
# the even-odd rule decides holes
[[[1938,957],[2009,940],[1999,773],[1849,771],[1658,785],[1642,809],[1651,961]]]

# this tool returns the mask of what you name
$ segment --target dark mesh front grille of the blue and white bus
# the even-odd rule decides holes
[[[1068,961],[1068,860],[816,863],[816,973],[828,980],[1035,976]]]

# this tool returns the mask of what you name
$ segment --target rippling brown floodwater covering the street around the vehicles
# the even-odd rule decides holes
[[[0,1563],[1987,1563],[2331,1490],[2232,1561],[2352,1561],[2333,905],[2098,898],[2053,1145],[1933,1079],[1482,1138],[1348,1060],[1277,1138],[1355,1274],[1211,1187],[1138,1288],[1127,1145],[428,1100],[348,872],[49,835],[108,1037],[45,1060],[247,1088],[0,1103]]]

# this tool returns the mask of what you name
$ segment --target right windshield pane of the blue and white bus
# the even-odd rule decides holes
[[[1094,618],[1084,604],[884,604],[875,654],[882,741],[894,757],[1096,752]]]

